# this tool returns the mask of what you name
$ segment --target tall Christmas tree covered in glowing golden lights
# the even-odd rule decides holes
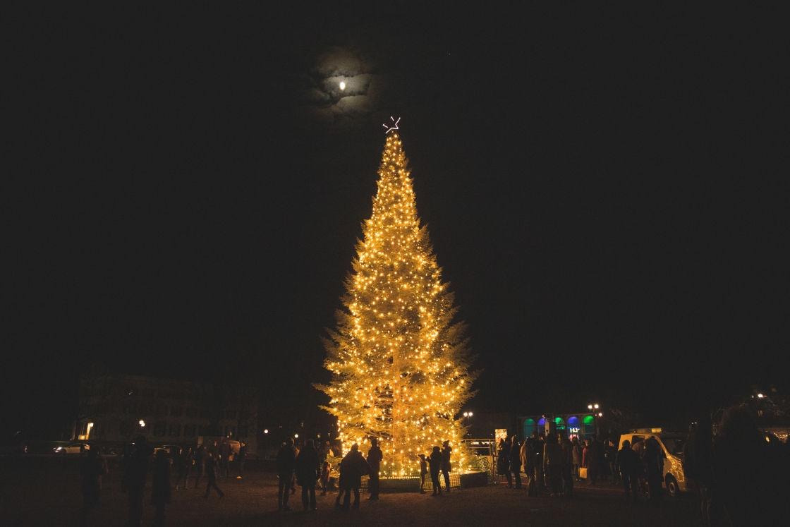
[[[449,440],[454,465],[465,463],[454,416],[472,397],[475,375],[463,323],[440,280],[427,228],[420,228],[412,179],[397,132],[387,137],[373,214],[357,244],[337,331],[325,341],[332,371],[325,410],[337,416],[348,449],[381,439],[391,473],[413,473],[417,454]]]

